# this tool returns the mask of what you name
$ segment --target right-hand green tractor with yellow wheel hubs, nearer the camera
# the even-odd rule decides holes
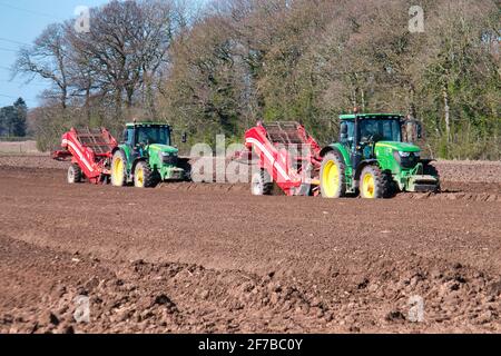
[[[340,141],[321,152],[323,197],[360,192],[363,198],[377,199],[399,191],[440,190],[432,160],[422,159],[421,149],[409,142],[421,138],[418,121],[391,113],[353,113],[340,119]]]

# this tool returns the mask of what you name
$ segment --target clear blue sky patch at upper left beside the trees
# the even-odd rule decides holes
[[[0,107],[22,97],[29,107],[38,103],[38,93],[47,82],[17,77],[13,81],[9,68],[16,61],[16,51],[31,43],[50,23],[72,18],[76,7],[95,7],[107,0],[0,0]]]

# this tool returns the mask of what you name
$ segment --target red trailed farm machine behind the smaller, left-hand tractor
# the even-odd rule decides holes
[[[75,129],[62,136],[61,150],[52,152],[56,160],[67,160],[77,165],[84,176],[92,184],[107,180],[110,175],[111,151],[117,140],[105,128]],[[70,167],[71,169],[71,167]]]

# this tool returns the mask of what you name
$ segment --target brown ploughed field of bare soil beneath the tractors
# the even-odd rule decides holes
[[[366,201],[0,157],[0,332],[500,333],[501,162],[436,167],[443,194]]]

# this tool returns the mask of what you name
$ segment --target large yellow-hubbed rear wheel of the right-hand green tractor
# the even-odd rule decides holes
[[[345,165],[340,155],[325,155],[321,168],[321,192],[324,198],[342,198],[346,196]]]

